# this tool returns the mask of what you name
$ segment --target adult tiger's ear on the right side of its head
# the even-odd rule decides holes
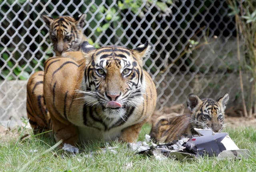
[[[150,51],[151,51],[151,46],[148,44],[148,41],[146,41],[146,43],[133,49],[133,55],[137,59],[140,66],[142,66],[143,57],[150,54]]]

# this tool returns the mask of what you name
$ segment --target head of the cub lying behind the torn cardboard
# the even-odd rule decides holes
[[[192,127],[212,129],[214,132],[221,131],[224,124],[224,110],[228,103],[228,99],[228,93],[217,101],[210,98],[200,100],[195,94],[189,94],[187,98],[187,106],[192,112]]]

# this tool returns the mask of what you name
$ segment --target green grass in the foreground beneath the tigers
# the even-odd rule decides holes
[[[149,133],[150,125],[144,125],[140,140]],[[100,151],[102,142],[83,146],[81,153],[72,156],[60,149],[54,149],[54,141],[42,135],[19,141],[20,137],[0,138],[0,172],[250,172],[256,171],[256,129],[253,127],[226,128],[232,140],[240,149],[249,149],[250,158],[242,160],[218,160],[198,158],[177,161],[172,158],[156,160],[154,157],[134,154],[125,143],[113,141],[117,153]],[[21,136],[32,129],[19,128]],[[92,153],[94,152],[94,153]],[[91,155],[90,155],[91,154]]]

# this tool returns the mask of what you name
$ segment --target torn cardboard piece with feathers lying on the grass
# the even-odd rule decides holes
[[[152,146],[138,153],[154,155],[158,159],[173,157],[177,160],[194,159],[205,155],[216,156],[218,159],[241,159],[250,156],[248,149],[239,149],[228,133],[214,133],[205,129],[195,130],[200,136]]]

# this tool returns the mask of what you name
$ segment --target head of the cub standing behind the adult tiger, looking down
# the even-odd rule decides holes
[[[85,41],[83,33],[86,14],[82,14],[77,20],[70,16],[60,16],[53,19],[42,15],[42,19],[50,28],[50,38],[56,56],[62,52],[78,51],[82,41]]]

